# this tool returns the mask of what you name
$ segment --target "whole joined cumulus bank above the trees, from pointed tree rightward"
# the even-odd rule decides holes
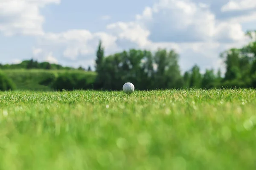
[[[238,21],[218,20],[209,5],[190,0],[159,0],[145,7],[136,20],[112,23],[106,28],[105,33],[47,33],[39,46],[46,51],[62,49],[61,55],[73,61],[95,58],[100,39],[107,54],[129,48],[175,49],[180,54],[181,68],[187,70],[195,63],[202,69],[222,67],[219,53],[247,42]]]

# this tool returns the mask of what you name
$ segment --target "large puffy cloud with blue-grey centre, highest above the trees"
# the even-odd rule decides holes
[[[148,28],[149,39],[172,42],[208,40],[242,40],[239,23],[217,20],[209,6],[190,0],[160,0],[137,15],[139,23]],[[235,34],[234,34],[235,33]]]

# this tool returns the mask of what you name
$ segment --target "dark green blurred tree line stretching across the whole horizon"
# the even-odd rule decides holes
[[[138,90],[153,89],[180,89],[180,88],[256,88],[256,31],[248,31],[247,36],[251,41],[241,48],[231,48],[223,51],[219,57],[224,61],[226,71],[221,77],[221,71],[207,69],[201,74],[198,65],[194,65],[181,74],[178,65],[179,54],[174,50],[158,49],[155,52],[130,49],[116,54],[105,56],[102,42],[96,50],[95,59],[95,81],[87,84],[83,89],[95,90],[121,90],[125,82],[132,82]],[[38,68],[71,70],[77,69],[90,71],[91,68],[84,69],[63,67],[61,65],[50,64],[48,62],[37,62],[33,59],[26,60],[16,65],[0,65],[2,69],[13,68]],[[216,72],[216,73],[215,73]],[[79,80],[67,74],[61,77],[51,78],[49,85],[58,85],[60,89],[81,88],[82,82],[86,82],[86,76]],[[60,83],[56,82],[58,80]],[[51,82],[55,81],[55,82]],[[72,82],[73,84],[70,84]],[[76,84],[76,86],[74,85]]]

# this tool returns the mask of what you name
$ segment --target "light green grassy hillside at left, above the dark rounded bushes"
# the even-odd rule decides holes
[[[54,80],[59,74],[82,74],[87,77],[88,82],[94,82],[96,73],[79,70],[41,70],[41,69],[6,69],[2,70],[16,84],[18,90],[52,91],[46,80]]]

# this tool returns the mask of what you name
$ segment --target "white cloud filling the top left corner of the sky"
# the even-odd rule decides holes
[[[0,31],[6,36],[15,34],[43,35],[44,17],[39,9],[60,0],[1,0]]]

